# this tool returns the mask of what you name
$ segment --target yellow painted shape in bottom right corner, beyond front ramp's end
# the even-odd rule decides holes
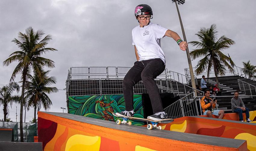
[[[235,139],[246,140],[247,148],[249,150],[256,150],[256,136],[249,133],[240,133],[236,135]]]

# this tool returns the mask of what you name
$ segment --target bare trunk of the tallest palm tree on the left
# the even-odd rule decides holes
[[[27,68],[24,68],[22,89],[21,89],[21,96],[20,96],[21,97],[21,100],[20,100],[20,142],[24,142],[24,140],[23,140],[23,104],[24,104],[26,74],[27,74]]]

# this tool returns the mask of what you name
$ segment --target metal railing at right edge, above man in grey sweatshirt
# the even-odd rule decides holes
[[[250,79],[237,80],[240,91],[245,95],[256,95],[256,86],[250,83],[247,83],[244,80],[250,80]],[[255,97],[253,98],[256,99]]]

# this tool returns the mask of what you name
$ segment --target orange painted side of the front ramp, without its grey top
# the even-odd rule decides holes
[[[106,128],[38,113],[38,140],[48,150],[238,150],[223,146],[170,140]],[[157,143],[155,143],[157,141]],[[246,149],[243,143],[239,149]]]

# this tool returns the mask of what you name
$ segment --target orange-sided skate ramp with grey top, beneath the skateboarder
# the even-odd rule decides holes
[[[39,112],[38,141],[43,150],[247,150],[245,140],[143,126],[68,113]]]

